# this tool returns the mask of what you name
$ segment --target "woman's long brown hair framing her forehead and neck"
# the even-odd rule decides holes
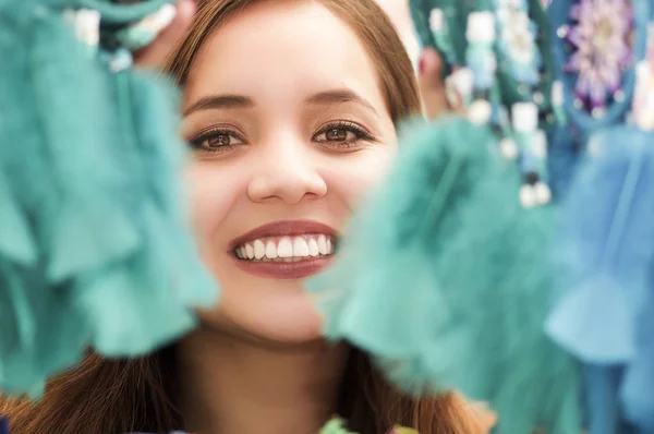
[[[208,35],[238,10],[258,0],[201,1],[195,23],[165,70],[178,84]],[[388,110],[398,121],[420,111],[413,68],[395,28],[374,0],[319,0],[356,32],[373,59]],[[182,429],[175,398],[174,346],[138,360],[106,360],[89,354],[84,363],[52,379],[38,403],[0,400],[14,434],[162,433]],[[480,421],[455,395],[412,399],[390,387],[366,354],[351,355],[337,411],[360,434],[386,433],[395,424],[421,434],[480,433]],[[482,430],[485,431],[485,430]]]

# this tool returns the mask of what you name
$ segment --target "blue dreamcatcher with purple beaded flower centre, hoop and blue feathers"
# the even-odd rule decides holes
[[[552,164],[570,173],[571,146],[589,145],[573,179],[555,176],[567,193],[559,261],[562,297],[547,322],[549,335],[584,362],[584,395],[590,434],[654,432],[654,136],[618,125],[631,107],[634,70],[622,74],[625,98],[605,116],[574,107],[576,74],[565,73],[567,56],[557,29],[568,24],[576,0],[549,3],[552,52],[564,85],[566,116],[578,137],[557,132]],[[634,0],[633,57],[645,56],[651,0]],[[592,144],[592,146],[591,146]],[[598,149],[600,156],[596,155]],[[570,158],[572,157],[572,158]],[[570,165],[571,164],[571,165]],[[570,166],[569,166],[570,165]],[[564,289],[565,288],[565,289]]]

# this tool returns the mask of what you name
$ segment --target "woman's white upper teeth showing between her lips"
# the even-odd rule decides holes
[[[334,242],[331,237],[326,234],[264,238],[241,244],[234,252],[240,260],[292,261],[330,255],[334,253]]]

